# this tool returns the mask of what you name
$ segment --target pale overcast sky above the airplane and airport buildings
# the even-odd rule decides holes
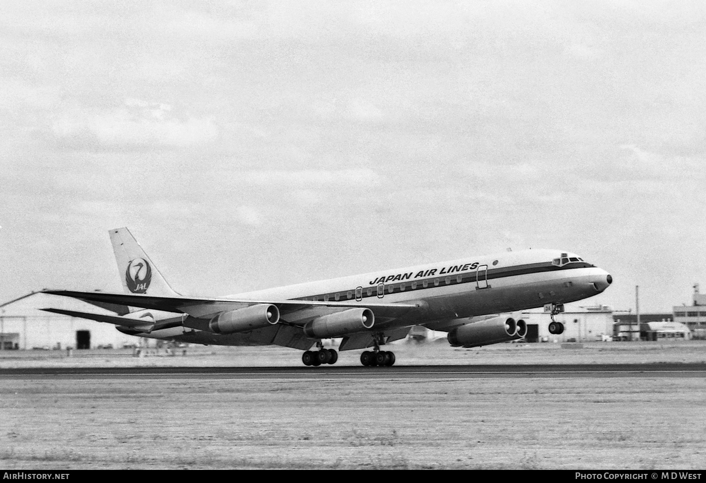
[[[0,301],[217,296],[508,248],[706,287],[701,1],[3,1]]]

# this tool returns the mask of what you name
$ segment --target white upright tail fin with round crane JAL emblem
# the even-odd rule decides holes
[[[108,233],[125,293],[179,296],[127,228],[113,228]]]

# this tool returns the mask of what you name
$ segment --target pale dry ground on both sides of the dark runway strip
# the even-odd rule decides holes
[[[706,360],[706,344],[691,342],[488,349],[393,350],[409,364]],[[339,363],[358,365],[358,355],[342,353]],[[3,354],[0,368],[300,365],[299,357],[280,348],[30,352]],[[8,470],[706,467],[699,377],[1,381],[0,467]]]

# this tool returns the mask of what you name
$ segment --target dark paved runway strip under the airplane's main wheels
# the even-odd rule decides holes
[[[47,367],[0,369],[6,378],[339,379],[487,377],[706,377],[706,364],[419,365],[396,367]]]

